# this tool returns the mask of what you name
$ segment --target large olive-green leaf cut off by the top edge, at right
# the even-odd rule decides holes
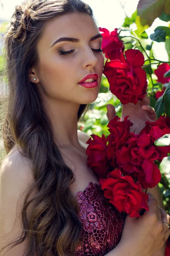
[[[155,20],[164,9],[164,0],[139,0],[138,15],[146,20]]]

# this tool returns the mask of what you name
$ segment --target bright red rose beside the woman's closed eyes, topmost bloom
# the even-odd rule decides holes
[[[102,50],[104,50],[106,58],[109,58],[108,53],[112,52],[114,49],[122,48],[122,50],[124,51],[125,46],[123,45],[123,41],[119,39],[117,29],[109,32],[108,29],[100,27],[99,31],[103,36]]]

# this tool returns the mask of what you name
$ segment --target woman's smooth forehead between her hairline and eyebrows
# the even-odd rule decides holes
[[[71,13],[49,20],[42,32],[40,45],[51,46],[60,37],[90,39],[99,33],[94,19],[86,13]]]

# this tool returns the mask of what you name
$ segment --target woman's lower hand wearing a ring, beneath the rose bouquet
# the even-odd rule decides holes
[[[158,202],[152,194],[148,196],[149,211],[145,211],[139,218],[130,218],[127,215],[125,219],[119,243],[122,247],[127,247],[130,255],[131,252],[142,256],[154,255],[164,246],[170,235],[170,230],[163,224],[163,221],[170,224],[170,215],[158,207]]]

